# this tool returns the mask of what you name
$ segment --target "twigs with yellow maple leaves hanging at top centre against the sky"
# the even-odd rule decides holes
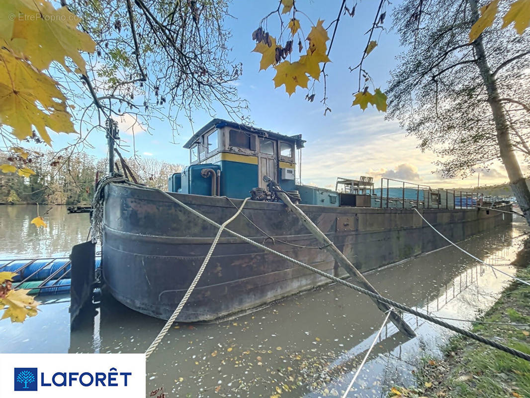
[[[272,66],[276,74],[273,77],[275,88],[285,86],[285,91],[289,97],[296,91],[296,88],[307,89],[308,92],[305,98],[313,102],[315,98],[315,82],[320,81],[323,76],[324,93],[322,103],[325,111],[324,115],[331,111],[326,100],[326,64],[330,63],[329,54],[337,32],[337,27],[341,16],[348,15],[353,17],[355,15],[355,3],[352,7],[348,7],[346,0],[343,0],[339,9],[337,19],[332,21],[328,27],[324,27],[323,20],[317,20],[313,24],[308,16],[299,11],[296,7],[296,0],[279,0],[278,8],[270,12],[260,22],[258,29],[252,33],[252,39],[257,42],[254,52],[261,54],[260,71],[267,70]],[[387,0],[381,0],[376,13],[375,21],[372,28],[368,30],[368,42],[366,44],[361,62],[350,71],[359,70],[359,86],[357,93],[354,94],[355,100],[353,105],[359,105],[361,109],[366,109],[368,103],[376,106],[378,110],[386,111],[386,96],[381,89],[375,89],[374,94],[368,92],[368,83],[371,79],[363,68],[363,60],[377,47],[377,40],[374,40],[373,33],[376,29],[383,29],[383,22],[385,19],[384,5],[388,3]],[[280,13],[281,10],[281,13]],[[284,23],[282,15],[289,14],[290,20]],[[270,16],[277,14],[280,20],[280,33],[273,37],[268,31],[264,29],[268,25]],[[300,18],[307,20],[311,25],[311,29],[306,37],[303,36],[304,24]],[[307,31],[307,30],[306,30]],[[330,37],[331,35],[331,37]],[[285,40],[285,44],[282,44]],[[295,45],[297,43],[297,45]],[[293,47],[297,47],[298,53],[293,54]],[[294,59],[293,59],[294,58]],[[361,86],[360,76],[364,76],[364,84]],[[311,85],[310,85],[311,84]]]

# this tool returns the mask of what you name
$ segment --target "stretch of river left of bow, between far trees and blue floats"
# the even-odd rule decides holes
[[[86,240],[89,214],[68,214],[67,206],[41,205],[47,228],[37,228],[36,205],[0,205],[0,258],[64,257]]]

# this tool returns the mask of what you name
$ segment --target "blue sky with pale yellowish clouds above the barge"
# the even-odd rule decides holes
[[[406,137],[398,123],[384,120],[384,114],[375,108],[370,107],[363,112],[358,106],[351,107],[352,93],[357,91],[358,75],[350,73],[348,67],[359,62],[366,46],[367,36],[364,33],[374,19],[376,2],[360,2],[354,18],[341,16],[330,54],[332,63],[326,66],[326,72],[329,73],[328,105],[332,109],[327,116],[323,116],[324,108],[320,103],[323,84],[316,83],[315,101],[310,103],[304,99],[307,93],[305,89],[298,88],[290,98],[283,86],[275,89],[272,81],[275,71],[272,67],[259,72],[261,55],[251,52],[255,46],[251,33],[258,27],[263,16],[274,10],[277,4],[276,0],[234,0],[229,7],[233,18],[228,17],[225,22],[232,32],[229,42],[233,48],[232,57],[235,62],[243,63],[243,75],[237,82],[237,87],[240,96],[249,101],[250,117],[254,125],[287,135],[303,134],[307,140],[302,155],[303,183],[330,186],[334,185],[338,176],[356,178],[359,175],[372,175],[378,178],[384,175],[440,187],[476,185],[476,176],[466,180],[444,180],[432,174],[435,168],[431,162],[436,157],[432,153],[421,153],[416,149],[416,139]],[[297,0],[296,4],[313,23],[323,19],[324,27],[327,27],[337,18],[340,0]],[[284,21],[288,22],[289,17],[284,17]],[[297,18],[307,34],[311,23],[300,14]],[[384,25],[386,28],[392,25],[391,9],[387,10]],[[277,15],[269,18],[268,30],[273,36],[277,36],[280,30]],[[378,34],[375,37],[377,39]],[[400,51],[402,48],[399,46],[399,39],[393,31],[383,32],[378,38],[378,46],[364,63],[376,87],[386,87],[389,72],[396,65],[395,56]],[[216,117],[228,118],[228,115],[219,106]],[[199,129],[210,119],[211,116],[204,111],[196,111],[193,113],[193,126]],[[123,120],[121,129],[125,129],[129,122],[127,119]],[[189,154],[182,148],[182,144],[191,136],[192,129],[184,117],[179,122],[182,129],[175,140],[178,144],[173,144],[169,124],[151,120],[152,135],[142,131],[135,134],[137,153],[172,163],[187,164]],[[132,142],[130,132],[127,134],[122,131],[121,137]],[[63,143],[64,139],[57,137],[54,146],[57,148]],[[91,143],[95,149],[89,152],[104,157],[104,137],[93,135]],[[502,167],[481,175],[483,184],[506,180]]]

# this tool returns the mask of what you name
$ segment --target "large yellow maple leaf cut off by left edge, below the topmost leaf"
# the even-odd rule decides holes
[[[48,145],[47,127],[57,133],[74,133],[58,84],[10,51],[0,50],[0,123],[11,126],[19,140],[31,136],[35,126]]]

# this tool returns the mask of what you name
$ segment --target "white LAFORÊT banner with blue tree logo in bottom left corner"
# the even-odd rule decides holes
[[[0,398],[143,398],[145,394],[143,353],[0,353]]]

